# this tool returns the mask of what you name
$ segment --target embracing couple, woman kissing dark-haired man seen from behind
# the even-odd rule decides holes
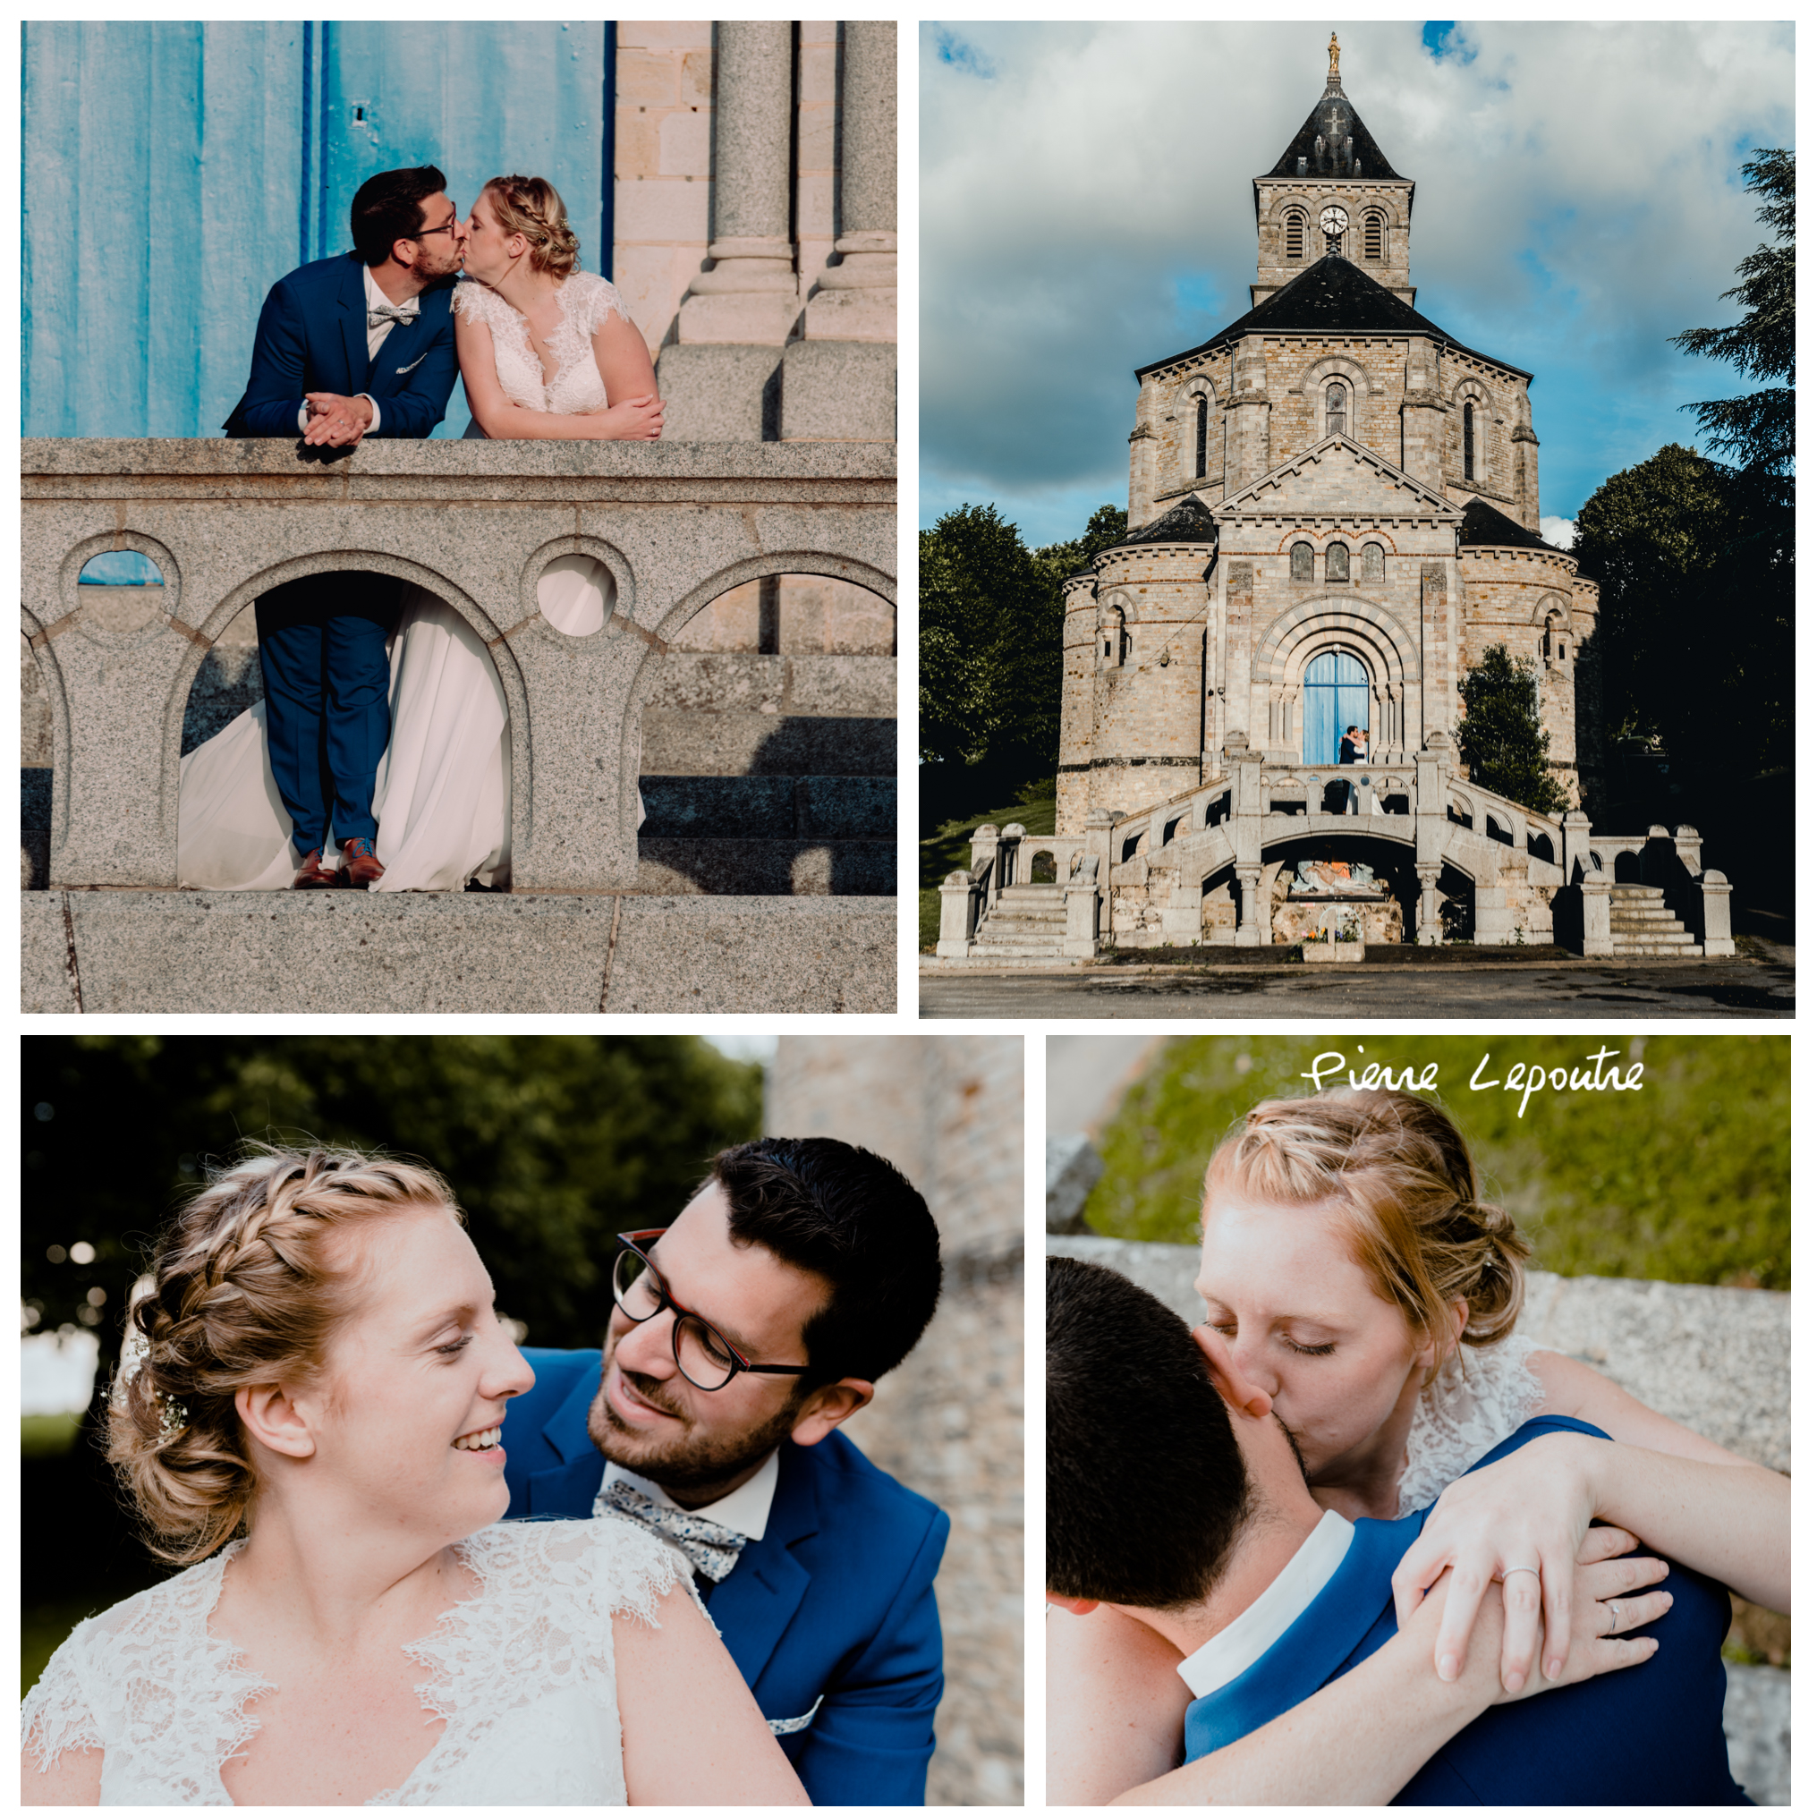
[[[1514,1335],[1445,1112],[1263,1103],[1201,1223],[1197,1330],[1048,1259],[1048,1802],[1748,1802],[1726,1592],[1790,1610],[1790,1484]]]

